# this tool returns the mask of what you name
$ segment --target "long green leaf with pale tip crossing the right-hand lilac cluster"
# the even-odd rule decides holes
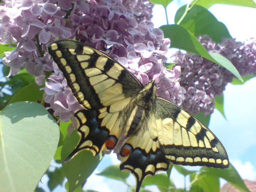
[[[218,53],[208,53],[204,46],[196,39],[196,37],[184,27],[179,25],[163,25],[160,27],[160,29],[163,30],[165,37],[170,38],[172,48],[183,49],[198,54],[214,63],[221,65],[222,67],[225,67],[242,81],[238,71],[228,59]]]

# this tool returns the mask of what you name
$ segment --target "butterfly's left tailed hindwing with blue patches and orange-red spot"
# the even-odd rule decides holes
[[[111,150],[120,135],[119,112],[109,112],[109,107],[98,110],[79,110],[75,113],[80,140],[75,150],[65,160],[68,162],[77,153],[90,150],[94,155]]]

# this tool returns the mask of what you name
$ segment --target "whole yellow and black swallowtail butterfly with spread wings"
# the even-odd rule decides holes
[[[84,109],[75,112],[80,141],[66,162],[83,150],[117,153],[120,169],[136,178],[174,164],[227,168],[218,138],[199,120],[158,97],[154,81],[143,85],[120,63],[88,45],[61,40],[48,51]]]

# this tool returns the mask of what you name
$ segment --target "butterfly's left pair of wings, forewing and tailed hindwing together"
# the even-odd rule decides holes
[[[49,44],[48,51],[85,108],[75,113],[80,141],[66,161],[81,150],[95,155],[112,149],[121,134],[120,112],[143,85],[117,61],[88,45],[61,40]]]

